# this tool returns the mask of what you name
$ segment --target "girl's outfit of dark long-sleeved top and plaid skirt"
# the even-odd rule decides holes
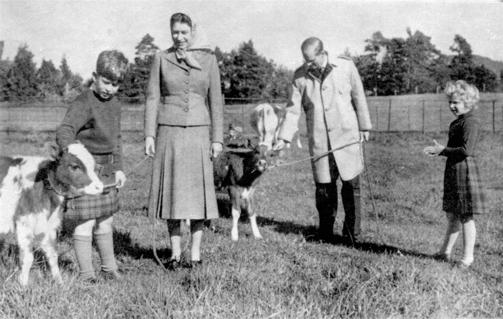
[[[447,156],[442,209],[460,218],[485,214],[485,187],[477,158],[480,120],[476,110],[460,115],[449,127],[449,142],[439,154]]]

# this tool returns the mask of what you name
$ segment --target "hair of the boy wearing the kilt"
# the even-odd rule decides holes
[[[96,62],[96,73],[112,82],[122,82],[128,69],[128,59],[118,50],[103,51]]]

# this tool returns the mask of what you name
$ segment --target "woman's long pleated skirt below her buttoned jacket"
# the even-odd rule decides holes
[[[208,126],[158,126],[148,216],[218,218]]]

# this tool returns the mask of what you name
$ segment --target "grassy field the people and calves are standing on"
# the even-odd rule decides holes
[[[304,145],[307,145],[303,136]],[[356,247],[312,241],[317,227],[314,184],[307,161],[268,171],[256,192],[263,240],[245,219],[230,240],[228,199],[219,194],[221,218],[203,237],[204,264],[164,272],[155,262],[170,256],[165,224],[146,218],[150,166],[128,176],[115,219],[116,257],[122,282],[81,283],[71,241],[60,237],[64,284],[51,283],[41,254],[21,288],[12,235],[0,237],[0,318],[454,318],[503,317],[502,191],[487,189],[491,214],[476,218],[475,261],[468,270],[432,259],[441,245],[445,159],[422,149],[445,134],[372,133],[362,175],[364,243]],[[5,153],[40,154],[53,134],[11,134]],[[142,136],[124,137],[126,167],[143,158]],[[503,183],[501,136],[482,141],[481,170],[488,187]],[[292,147],[283,160],[308,157]],[[368,182],[370,180],[370,184]],[[372,191],[375,211],[370,197]],[[342,207],[335,227],[342,231]],[[183,258],[190,258],[184,228]],[[462,238],[455,250],[460,258]],[[98,269],[98,255],[94,263]]]

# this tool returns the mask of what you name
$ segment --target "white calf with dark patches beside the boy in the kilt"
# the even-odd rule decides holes
[[[103,192],[94,168],[82,144],[69,145],[55,159],[0,156],[0,234],[16,234],[22,285],[28,284],[34,246],[42,249],[52,277],[61,282],[55,244],[65,198]]]

